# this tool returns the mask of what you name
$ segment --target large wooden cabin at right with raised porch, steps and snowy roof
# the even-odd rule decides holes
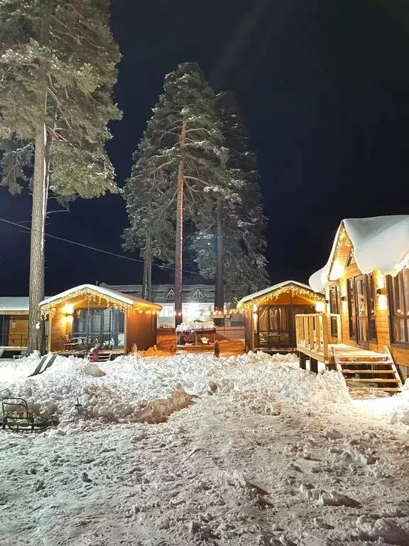
[[[325,313],[297,318],[300,353],[356,385],[398,390],[396,365],[409,373],[408,259],[409,215],[342,220],[326,266],[310,277]]]

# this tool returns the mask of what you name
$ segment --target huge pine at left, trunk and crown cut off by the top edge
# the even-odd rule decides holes
[[[0,3],[1,183],[29,182],[31,217],[28,351],[44,350],[44,232],[49,191],[60,201],[116,191],[104,144],[119,51],[108,0]],[[40,326],[42,325],[42,327]]]

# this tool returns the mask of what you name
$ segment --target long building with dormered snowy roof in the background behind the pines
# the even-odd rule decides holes
[[[101,287],[120,291],[123,294],[131,294],[142,297],[141,284],[105,284]],[[236,299],[236,290],[231,289],[227,294],[227,302],[230,304]],[[163,307],[158,315],[158,326],[174,326],[175,324],[175,286],[173,284],[152,284],[151,300]],[[214,310],[214,284],[184,284],[182,287],[182,313],[184,321],[210,319]],[[235,304],[234,304],[235,306]],[[235,317],[239,320],[239,316]]]

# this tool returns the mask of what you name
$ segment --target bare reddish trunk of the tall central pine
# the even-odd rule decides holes
[[[183,191],[185,189],[185,146],[186,121],[182,121],[179,141],[182,157],[178,168],[178,196],[176,200],[176,242],[175,242],[175,324],[182,323],[182,254],[183,254]]]

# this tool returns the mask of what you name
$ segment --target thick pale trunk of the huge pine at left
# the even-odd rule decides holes
[[[44,299],[45,218],[47,215],[48,173],[47,133],[41,124],[36,133],[33,173],[33,204],[31,209],[30,287],[28,315],[28,354],[33,350],[45,353],[45,328],[40,315]]]

